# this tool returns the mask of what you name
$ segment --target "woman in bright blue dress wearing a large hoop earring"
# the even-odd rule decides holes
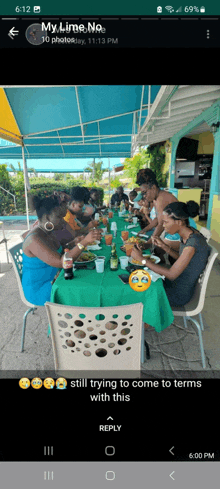
[[[38,226],[31,231],[23,242],[22,287],[26,299],[32,304],[43,306],[50,301],[51,281],[60,268],[63,268],[63,248],[54,235],[62,228],[66,214],[66,204],[60,203],[57,196],[34,197],[38,217]],[[69,254],[75,261],[83,249],[94,240],[100,239],[101,231],[91,230],[81,237]]]

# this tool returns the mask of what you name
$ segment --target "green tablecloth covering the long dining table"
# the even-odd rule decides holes
[[[119,218],[117,213],[110,219],[110,222],[117,222],[117,237],[113,242],[116,243],[118,256],[124,256],[120,250],[123,244],[121,240],[121,230],[128,225],[123,218]],[[134,231],[139,231],[139,226]],[[133,229],[131,229],[133,231]],[[129,232],[129,237],[132,234]],[[51,302],[82,307],[105,307],[135,304],[142,302],[143,321],[150,324],[156,331],[160,332],[167,328],[174,319],[166,292],[163,287],[162,279],[151,282],[150,287],[144,292],[135,292],[129,284],[124,285],[118,278],[121,273],[127,273],[120,267],[117,271],[110,270],[109,261],[111,246],[106,246],[102,239],[100,246],[102,249],[94,251],[97,256],[105,255],[105,271],[97,273],[96,270],[78,269],[74,272],[73,280],[65,280],[64,272],[61,271],[58,279],[52,286]]]

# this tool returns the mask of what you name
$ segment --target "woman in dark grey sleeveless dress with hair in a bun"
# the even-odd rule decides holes
[[[204,236],[189,225],[189,217],[198,214],[196,202],[171,202],[163,210],[163,227],[167,233],[180,235],[179,252],[166,245],[158,236],[152,237],[176,261],[167,269],[155,265],[147,256],[143,256],[139,247],[132,250],[131,256],[142,261],[150,270],[165,276],[164,288],[171,307],[184,306],[190,301],[200,274],[203,272],[210,248]]]

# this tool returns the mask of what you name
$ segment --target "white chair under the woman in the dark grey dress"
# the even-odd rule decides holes
[[[204,330],[203,326],[203,320],[202,320],[202,309],[204,306],[205,302],[205,294],[206,294],[206,288],[208,284],[208,279],[214,264],[215,259],[218,256],[217,250],[213,247],[210,246],[211,252],[208,258],[208,263],[203,271],[203,273],[200,275],[200,278],[198,280],[198,283],[196,284],[195,292],[192,297],[192,299],[183,307],[175,307],[172,309],[174,316],[182,316],[184,320],[184,326],[185,328],[187,327],[187,319],[190,319],[195,326],[198,329],[198,334],[199,334],[199,343],[200,343],[200,350],[201,350],[201,357],[202,357],[202,366],[205,368],[205,354],[204,354],[204,347],[203,347],[203,341],[202,341],[202,332]],[[196,320],[193,319],[192,316],[197,316],[199,315],[200,323]]]

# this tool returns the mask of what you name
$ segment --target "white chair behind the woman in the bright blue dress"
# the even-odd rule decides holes
[[[21,333],[21,352],[24,351],[24,339],[25,339],[27,315],[29,312],[32,312],[32,314],[34,314],[35,309],[37,309],[35,304],[31,304],[31,302],[27,301],[27,299],[25,298],[24,292],[23,292],[23,288],[22,288],[22,282],[21,282],[22,266],[23,266],[22,265],[22,261],[23,261],[22,260],[22,253],[23,253],[22,244],[23,244],[23,242],[18,243],[17,245],[13,246],[13,248],[10,248],[8,250],[8,253],[10,255],[10,258],[11,258],[11,261],[12,261],[12,264],[14,267],[15,276],[17,279],[21,300],[22,300],[22,302],[24,302],[24,304],[26,304],[29,307],[28,311],[25,312],[24,317],[23,317],[23,327],[22,327],[22,333]]]

